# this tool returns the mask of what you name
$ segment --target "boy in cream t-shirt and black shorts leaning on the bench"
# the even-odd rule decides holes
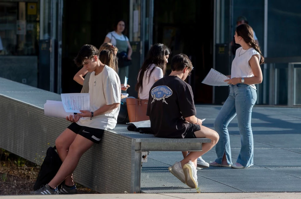
[[[120,108],[120,81],[116,71],[101,63],[99,59],[104,56],[109,58],[111,53],[113,52],[109,49],[99,53],[92,45],[84,45],[79,50],[74,62],[91,72],[90,110],[80,110],[81,113],[66,117],[66,120],[72,123],[55,140],[58,155],[63,163],[48,184],[30,194],[76,194],[72,173],[81,156],[94,143],[100,143],[105,129],[115,128]],[[57,186],[63,181],[62,189],[57,190]]]

